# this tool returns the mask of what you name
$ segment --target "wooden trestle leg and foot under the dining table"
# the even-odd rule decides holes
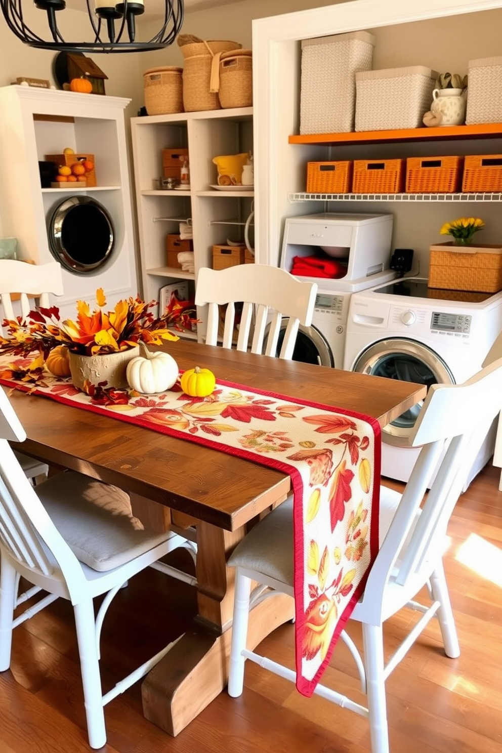
[[[199,614],[141,685],[143,713],[157,727],[176,736],[224,689],[232,636],[234,571],[230,552],[245,530],[228,532],[199,523],[197,564]],[[294,614],[288,596],[265,599],[249,619],[248,647],[255,648],[275,627]]]

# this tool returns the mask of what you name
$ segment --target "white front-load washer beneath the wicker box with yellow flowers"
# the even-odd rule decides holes
[[[502,330],[502,292],[470,293],[427,287],[402,278],[352,294],[344,368],[424,384],[459,384],[482,368]],[[382,430],[382,476],[407,481],[419,450],[407,440],[421,404]],[[488,462],[488,435],[468,483]]]

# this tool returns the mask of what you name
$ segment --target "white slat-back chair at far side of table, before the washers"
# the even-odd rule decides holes
[[[196,306],[208,304],[207,345],[218,344],[219,309],[227,304],[223,347],[231,348],[236,328],[236,303],[243,303],[236,350],[275,356],[282,317],[288,326],[279,358],[291,360],[300,324],[309,327],[315,306],[318,285],[303,282],[286,270],[268,264],[239,264],[226,270],[199,270],[196,284]],[[254,327],[251,327],[254,322]],[[267,323],[270,322],[269,328]],[[266,331],[268,332],[266,336]]]

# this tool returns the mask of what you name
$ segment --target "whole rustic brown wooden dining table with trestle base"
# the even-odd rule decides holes
[[[196,365],[218,380],[353,410],[384,426],[425,397],[422,385],[206,346],[166,349],[181,370]],[[196,524],[198,614],[191,630],[141,686],[145,717],[177,735],[227,684],[233,570],[227,559],[246,526],[291,492],[288,474],[178,437],[13,390],[27,439],[23,453],[129,492],[132,509],[156,529]],[[293,615],[289,597],[266,599],[250,620],[257,645]],[[250,645],[251,648],[251,645]]]

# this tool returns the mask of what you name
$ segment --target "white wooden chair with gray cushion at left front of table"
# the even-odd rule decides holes
[[[104,706],[138,681],[169,651],[163,648],[107,693],[99,673],[99,636],[105,613],[120,587],[184,539],[140,529],[129,498],[114,486],[75,472],[37,487],[16,462],[8,441],[26,434],[0,388],[0,671],[9,668],[14,627],[61,597],[75,613],[87,731],[91,748],[106,742]],[[32,584],[17,598],[19,576]],[[14,609],[38,591],[44,595],[24,611]],[[95,596],[104,595],[97,611]],[[132,640],[134,636],[132,636]]]

